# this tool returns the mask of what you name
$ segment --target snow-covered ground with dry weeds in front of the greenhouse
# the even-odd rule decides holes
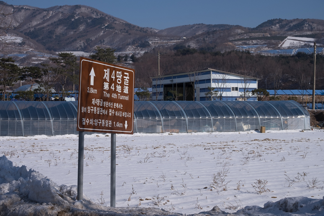
[[[0,207],[7,203],[10,208],[9,198],[18,194],[12,204],[16,211],[17,202],[22,211],[21,203],[30,200],[41,208],[45,203],[63,205],[57,200],[64,199],[76,209],[87,203],[92,209],[121,215],[324,215],[323,134],[323,130],[117,134],[116,207],[141,207],[126,209],[104,207],[110,206],[110,136],[85,135],[83,204],[73,198],[76,186],[68,187],[77,185],[77,135],[0,137],[1,156],[14,166],[1,158]],[[39,173],[30,174],[29,169]],[[32,176],[41,189],[31,186]],[[90,199],[99,205],[89,204]],[[211,211],[216,205],[222,211]]]

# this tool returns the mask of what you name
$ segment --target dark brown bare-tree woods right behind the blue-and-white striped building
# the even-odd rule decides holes
[[[316,86],[324,89],[324,56],[316,58]],[[150,86],[151,76],[157,76],[157,51],[145,53],[134,63],[136,86]],[[183,48],[165,50],[160,54],[160,74],[172,74],[212,68],[260,78],[259,88],[310,89],[313,56],[297,53],[293,56],[264,56],[242,51],[205,52]]]

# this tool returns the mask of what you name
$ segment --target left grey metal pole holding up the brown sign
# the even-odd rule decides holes
[[[78,188],[77,200],[83,199],[83,156],[84,156],[84,131],[79,131],[79,153],[78,153]]]

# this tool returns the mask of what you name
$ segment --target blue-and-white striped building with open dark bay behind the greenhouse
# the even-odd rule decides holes
[[[152,100],[244,100],[243,93],[258,88],[258,78],[207,68],[152,78]],[[208,89],[209,87],[209,89]],[[210,89],[217,97],[206,94]],[[246,100],[256,100],[250,94]]]

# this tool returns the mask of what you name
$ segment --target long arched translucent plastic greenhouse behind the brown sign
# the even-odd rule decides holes
[[[77,134],[77,101],[0,101],[0,136]],[[295,101],[134,101],[134,133],[309,130]]]

